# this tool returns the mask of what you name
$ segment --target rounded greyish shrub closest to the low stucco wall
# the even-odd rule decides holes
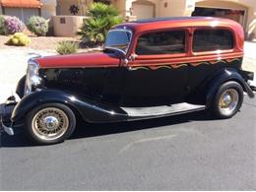
[[[49,30],[48,21],[38,16],[32,16],[29,19],[27,27],[38,36],[45,36]]]

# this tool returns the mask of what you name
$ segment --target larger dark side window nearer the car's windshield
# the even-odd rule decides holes
[[[139,37],[136,47],[138,55],[184,53],[186,32],[150,32]]]

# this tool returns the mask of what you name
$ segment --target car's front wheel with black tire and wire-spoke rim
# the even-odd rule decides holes
[[[76,127],[74,112],[60,103],[42,104],[30,111],[25,129],[35,144],[56,144],[68,139]]]

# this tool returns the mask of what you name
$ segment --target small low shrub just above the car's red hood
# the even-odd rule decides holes
[[[61,54],[72,54],[77,53],[79,48],[79,44],[74,41],[61,41],[57,45],[56,51]]]

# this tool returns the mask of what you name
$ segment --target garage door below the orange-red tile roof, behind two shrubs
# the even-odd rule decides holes
[[[5,15],[16,16],[24,23],[27,23],[30,17],[38,16],[38,9],[34,8],[5,8]]]

